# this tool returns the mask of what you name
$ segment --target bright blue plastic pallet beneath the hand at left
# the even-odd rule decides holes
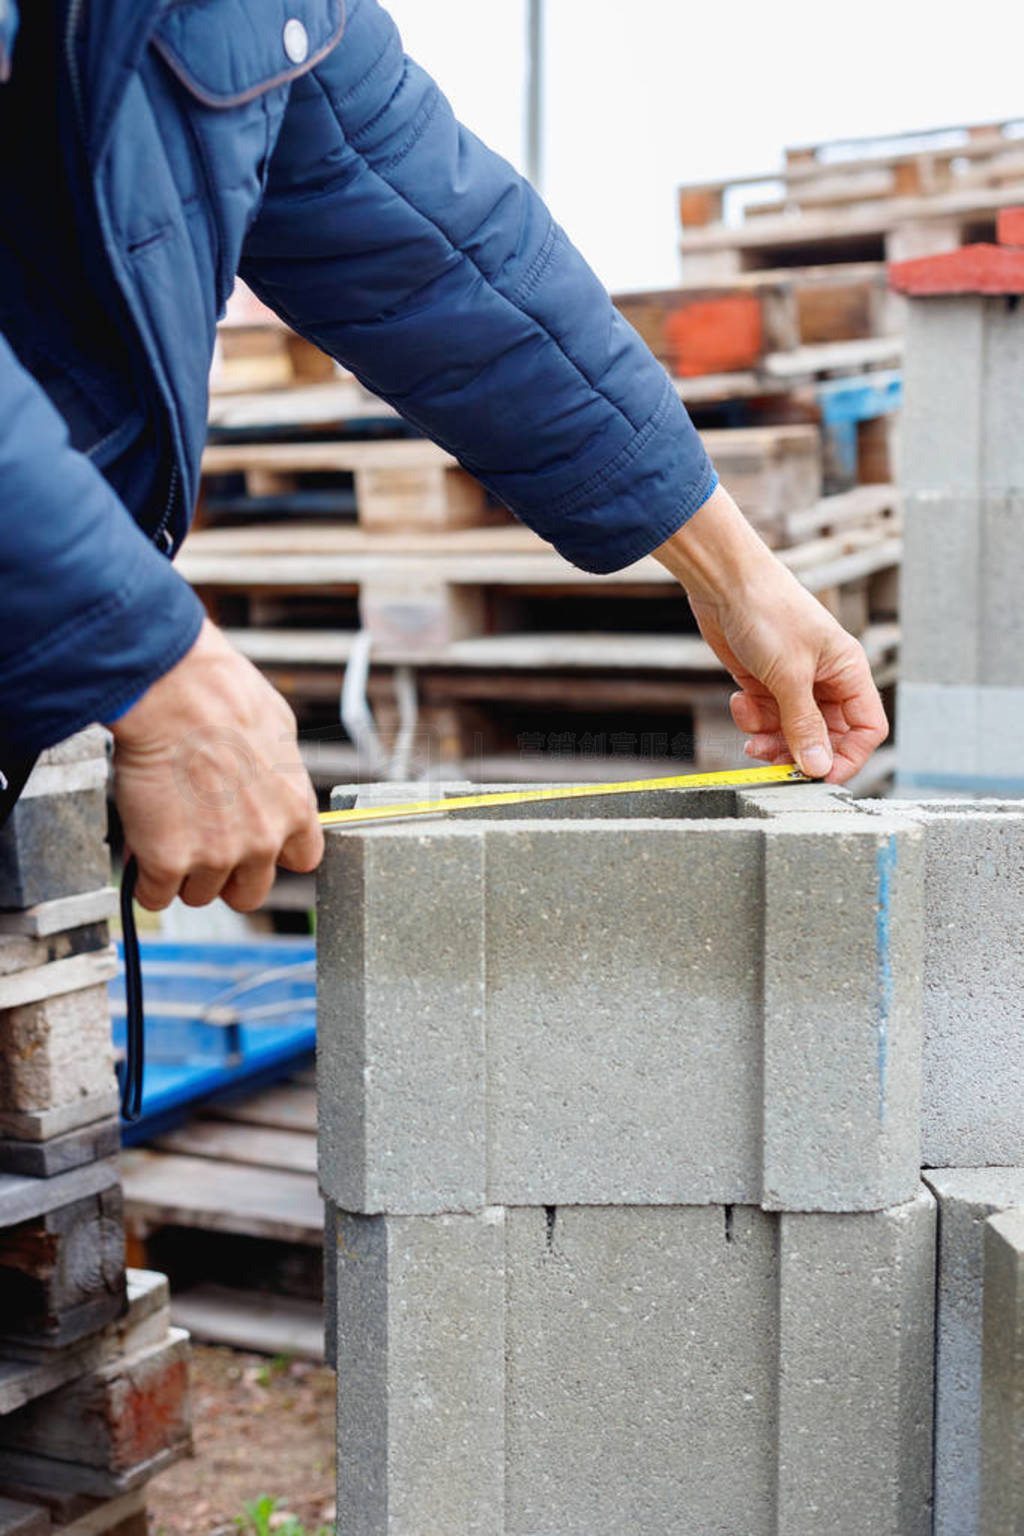
[[[140,945],[146,997],[143,1112],[126,1146],[187,1118],[201,1100],[287,1075],[316,1044],[316,945]],[[124,1049],[124,977],[111,982],[114,1044]]]

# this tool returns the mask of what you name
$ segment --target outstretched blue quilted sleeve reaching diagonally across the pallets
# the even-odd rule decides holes
[[[376,0],[292,86],[241,275],[583,570],[717,484],[665,370]]]

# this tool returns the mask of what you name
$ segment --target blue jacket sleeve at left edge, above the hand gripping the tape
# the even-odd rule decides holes
[[[31,756],[109,722],[203,622],[0,335],[0,743]],[[3,762],[0,762],[3,770]]]

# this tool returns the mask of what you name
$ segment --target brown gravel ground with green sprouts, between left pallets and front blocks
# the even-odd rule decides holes
[[[335,1522],[335,1375],[306,1361],[192,1346],[195,1458],[149,1485],[152,1536],[238,1536],[261,1495],[310,1533]]]

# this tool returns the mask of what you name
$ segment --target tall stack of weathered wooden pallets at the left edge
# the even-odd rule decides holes
[[[187,1338],[126,1272],[106,983],[106,739],[43,756],[0,833],[0,1531],[144,1536],[189,1450]]]

